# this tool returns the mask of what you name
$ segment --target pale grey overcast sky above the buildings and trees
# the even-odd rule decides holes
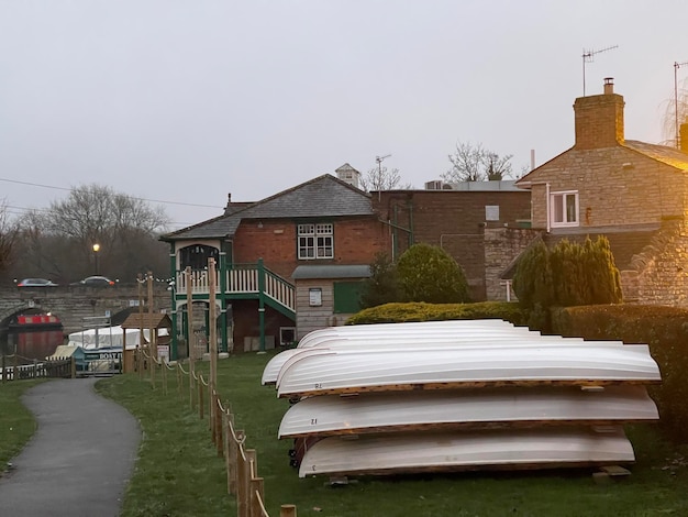
[[[0,198],[95,183],[176,229],[376,156],[422,188],[457,142],[521,170],[573,145],[584,50],[586,94],[613,77],[626,139],[661,143],[686,20],[686,0],[0,0]]]

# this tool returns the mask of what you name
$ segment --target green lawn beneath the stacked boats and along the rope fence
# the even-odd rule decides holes
[[[337,487],[326,477],[299,479],[289,466],[290,441],[277,440],[288,402],[260,386],[270,358],[247,353],[220,361],[218,391],[245,430],[246,447],[257,450],[271,516],[281,504],[296,504],[299,517],[688,515],[688,451],[659,440],[655,426],[628,428],[637,460],[633,474],[607,484],[596,484],[590,470],[360,477]],[[208,419],[189,409],[186,378],[181,394],[170,376],[165,395],[159,374],[156,389],[137,375],[102,380],[97,388],[134,414],[144,431],[123,516],[236,515]],[[4,397],[0,404],[4,416]]]

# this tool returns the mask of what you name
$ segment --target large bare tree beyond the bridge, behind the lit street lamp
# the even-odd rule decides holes
[[[19,274],[30,270],[67,282],[93,274],[99,264],[99,273],[124,279],[154,265],[154,271],[166,275],[166,245],[157,238],[167,222],[164,209],[110,187],[75,188],[48,209],[23,217],[24,260]],[[99,244],[98,251],[93,244]]]

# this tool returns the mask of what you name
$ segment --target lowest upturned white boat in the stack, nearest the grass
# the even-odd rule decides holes
[[[569,427],[364,435],[329,437],[310,446],[299,476],[580,468],[634,461],[633,447],[621,427],[610,432]]]

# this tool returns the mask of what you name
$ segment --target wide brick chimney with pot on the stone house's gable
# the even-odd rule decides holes
[[[604,94],[576,99],[575,148],[602,148],[623,144],[624,105],[623,97],[614,94],[611,77],[604,78]]]

